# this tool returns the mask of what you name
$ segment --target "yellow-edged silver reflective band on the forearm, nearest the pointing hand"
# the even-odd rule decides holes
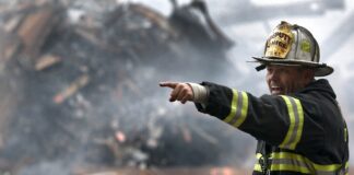
[[[233,90],[233,100],[231,104],[231,112],[224,119],[225,122],[239,127],[247,117],[248,110],[248,95],[246,92]]]

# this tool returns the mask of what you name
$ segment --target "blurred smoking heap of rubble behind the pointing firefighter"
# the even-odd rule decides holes
[[[232,43],[214,24],[193,40],[180,9],[79,2],[1,7],[0,173],[227,163],[231,129],[165,103],[157,82],[217,71]]]

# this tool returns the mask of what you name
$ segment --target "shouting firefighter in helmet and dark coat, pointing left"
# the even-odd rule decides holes
[[[270,94],[252,94],[211,82],[161,82],[170,102],[194,102],[201,113],[258,140],[253,174],[349,174],[349,136],[335,93],[319,62],[319,47],[303,26],[281,22],[267,39],[257,70],[267,70]]]

